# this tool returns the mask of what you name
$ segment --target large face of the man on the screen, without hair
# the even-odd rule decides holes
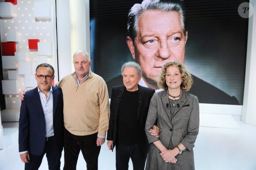
[[[135,43],[129,37],[127,43],[148,87],[158,89],[156,82],[162,66],[170,61],[184,63],[188,34],[184,35],[180,15],[174,11],[144,11],[138,22]]]

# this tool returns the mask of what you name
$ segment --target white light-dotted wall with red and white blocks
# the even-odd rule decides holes
[[[1,111],[3,122],[16,121],[17,115],[19,118],[18,94],[37,85],[34,74],[38,64],[51,64],[56,70],[54,82],[59,81],[55,6],[55,0],[0,2],[2,84],[6,103],[6,110]]]

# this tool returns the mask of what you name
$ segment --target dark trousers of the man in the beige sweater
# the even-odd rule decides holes
[[[98,156],[101,150],[96,145],[98,133],[86,136],[76,136],[64,129],[64,168],[76,170],[76,164],[81,151],[87,164],[87,170],[98,170]]]

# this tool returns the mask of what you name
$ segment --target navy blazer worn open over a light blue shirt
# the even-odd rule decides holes
[[[63,94],[62,90],[53,89],[53,130],[56,146],[62,148],[64,142]],[[41,155],[45,148],[45,115],[42,109],[38,88],[24,96],[19,115],[19,152],[28,151]]]

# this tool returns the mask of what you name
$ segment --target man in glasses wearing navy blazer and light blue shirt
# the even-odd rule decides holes
[[[52,86],[54,69],[36,68],[38,88],[26,92],[20,107],[19,153],[25,170],[38,170],[46,153],[49,170],[60,170],[64,121],[62,90]]]

